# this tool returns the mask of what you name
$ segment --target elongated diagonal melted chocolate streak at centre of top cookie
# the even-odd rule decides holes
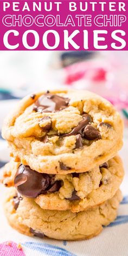
[[[92,120],[91,116],[89,116],[88,114],[84,114],[83,115],[83,119],[82,121],[79,122],[78,126],[76,126],[75,128],[73,128],[73,130],[69,133],[65,133],[64,135],[62,135],[62,137],[67,137],[67,136],[71,136],[71,135],[82,135],[82,132],[84,131],[85,126],[90,123]]]

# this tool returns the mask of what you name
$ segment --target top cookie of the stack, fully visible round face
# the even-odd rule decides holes
[[[48,174],[85,172],[116,155],[123,122],[113,105],[88,91],[50,91],[22,99],[4,122],[11,156]]]

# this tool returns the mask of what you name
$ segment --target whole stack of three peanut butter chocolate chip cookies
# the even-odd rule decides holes
[[[87,91],[29,95],[5,120],[3,138],[5,214],[19,232],[88,239],[116,218],[123,123],[107,100]]]

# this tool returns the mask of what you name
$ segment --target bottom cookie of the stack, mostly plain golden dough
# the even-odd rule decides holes
[[[84,212],[72,213],[70,210],[43,210],[33,199],[16,197],[16,190],[9,189],[4,203],[9,224],[26,235],[59,240],[82,240],[98,235],[117,216],[121,201],[117,191],[112,199]]]

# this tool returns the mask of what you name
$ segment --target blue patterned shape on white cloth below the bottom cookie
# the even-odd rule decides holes
[[[33,249],[34,251],[38,251],[44,253],[43,255],[48,256],[76,256],[75,254],[67,251],[58,246],[49,245],[44,242],[24,242],[22,244],[29,249]]]

